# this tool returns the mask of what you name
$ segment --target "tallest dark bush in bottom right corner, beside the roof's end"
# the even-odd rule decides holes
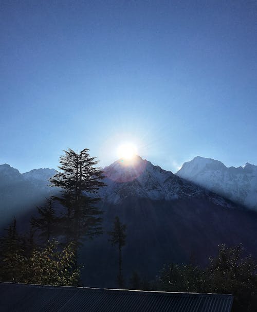
[[[257,263],[243,256],[242,246],[222,245],[206,270],[206,292],[232,293],[233,311],[257,310]]]

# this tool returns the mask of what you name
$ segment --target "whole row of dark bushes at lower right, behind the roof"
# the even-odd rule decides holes
[[[257,263],[243,256],[242,246],[221,245],[205,270],[194,265],[164,266],[155,285],[158,290],[231,293],[233,312],[257,310]]]

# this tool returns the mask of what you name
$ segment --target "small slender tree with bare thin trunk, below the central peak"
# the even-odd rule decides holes
[[[124,284],[124,280],[122,276],[121,248],[125,246],[125,243],[126,243],[125,231],[126,231],[126,225],[121,224],[119,217],[116,216],[115,221],[114,221],[113,231],[108,232],[108,234],[111,236],[111,239],[109,240],[109,242],[111,242],[113,246],[118,245],[118,249],[119,249],[118,285],[120,288],[122,288]]]

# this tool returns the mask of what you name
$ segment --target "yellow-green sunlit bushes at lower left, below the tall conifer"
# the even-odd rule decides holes
[[[75,286],[80,267],[75,268],[72,244],[60,248],[57,241],[41,248],[28,236],[19,235],[16,221],[0,241],[0,280],[15,283]]]

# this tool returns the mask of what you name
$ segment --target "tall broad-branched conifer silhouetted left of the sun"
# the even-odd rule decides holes
[[[63,228],[68,241],[76,243],[86,236],[92,238],[102,232],[101,211],[96,206],[101,198],[92,195],[104,186],[101,181],[103,174],[95,167],[98,161],[90,157],[88,151],[64,151],[65,155],[60,158],[61,172],[49,180],[51,186],[64,190],[61,197],[54,199],[66,210]]]

